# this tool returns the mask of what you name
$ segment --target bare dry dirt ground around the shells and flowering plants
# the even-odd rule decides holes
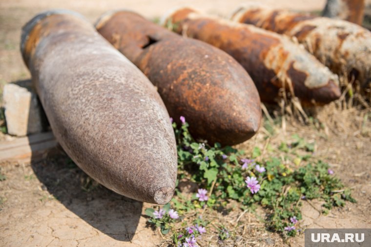
[[[0,89],[5,83],[30,78],[19,52],[21,26],[43,10],[68,8],[82,13],[93,23],[105,11],[117,8],[135,10],[147,18],[160,17],[180,6],[227,16],[246,1],[0,0]],[[325,0],[261,2],[306,11],[322,9],[325,4]],[[318,118],[326,123],[325,129],[292,122],[269,138],[273,146],[292,133],[314,140],[317,146],[314,155],[330,163],[346,186],[353,189],[358,201],[332,209],[326,216],[320,213],[320,202],[305,203],[303,228],[371,228],[371,123],[363,121],[365,114],[370,116],[371,112],[355,109],[339,112],[331,104],[318,113]],[[261,130],[241,147],[264,146],[264,137]],[[39,163],[2,164],[0,168],[6,176],[0,181],[0,246],[156,246],[162,241],[159,232],[146,226],[143,215],[149,204],[97,186],[71,165],[62,151]],[[252,216],[247,213],[241,218],[250,231],[262,225]],[[263,231],[262,241],[256,246],[304,246],[304,235],[283,243],[277,234],[265,231],[264,227]]]

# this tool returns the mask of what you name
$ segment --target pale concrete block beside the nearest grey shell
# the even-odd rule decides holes
[[[6,84],[3,99],[9,134],[24,136],[44,129],[42,107],[30,81]]]

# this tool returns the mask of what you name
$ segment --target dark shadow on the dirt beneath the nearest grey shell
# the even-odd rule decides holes
[[[97,230],[119,241],[131,241],[143,203],[97,184],[59,149],[58,156],[32,163],[42,189]]]

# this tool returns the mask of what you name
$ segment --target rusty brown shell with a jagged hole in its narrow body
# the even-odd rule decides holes
[[[256,87],[225,52],[182,38],[129,11],[103,15],[96,27],[148,76],[169,114],[174,119],[186,117],[196,137],[230,145],[258,130]]]

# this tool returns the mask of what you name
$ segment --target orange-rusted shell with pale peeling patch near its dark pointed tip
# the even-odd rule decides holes
[[[263,101],[273,101],[282,87],[302,101],[328,103],[340,96],[338,78],[289,38],[252,25],[202,15],[184,8],[165,20],[176,32],[214,45],[247,70]]]

